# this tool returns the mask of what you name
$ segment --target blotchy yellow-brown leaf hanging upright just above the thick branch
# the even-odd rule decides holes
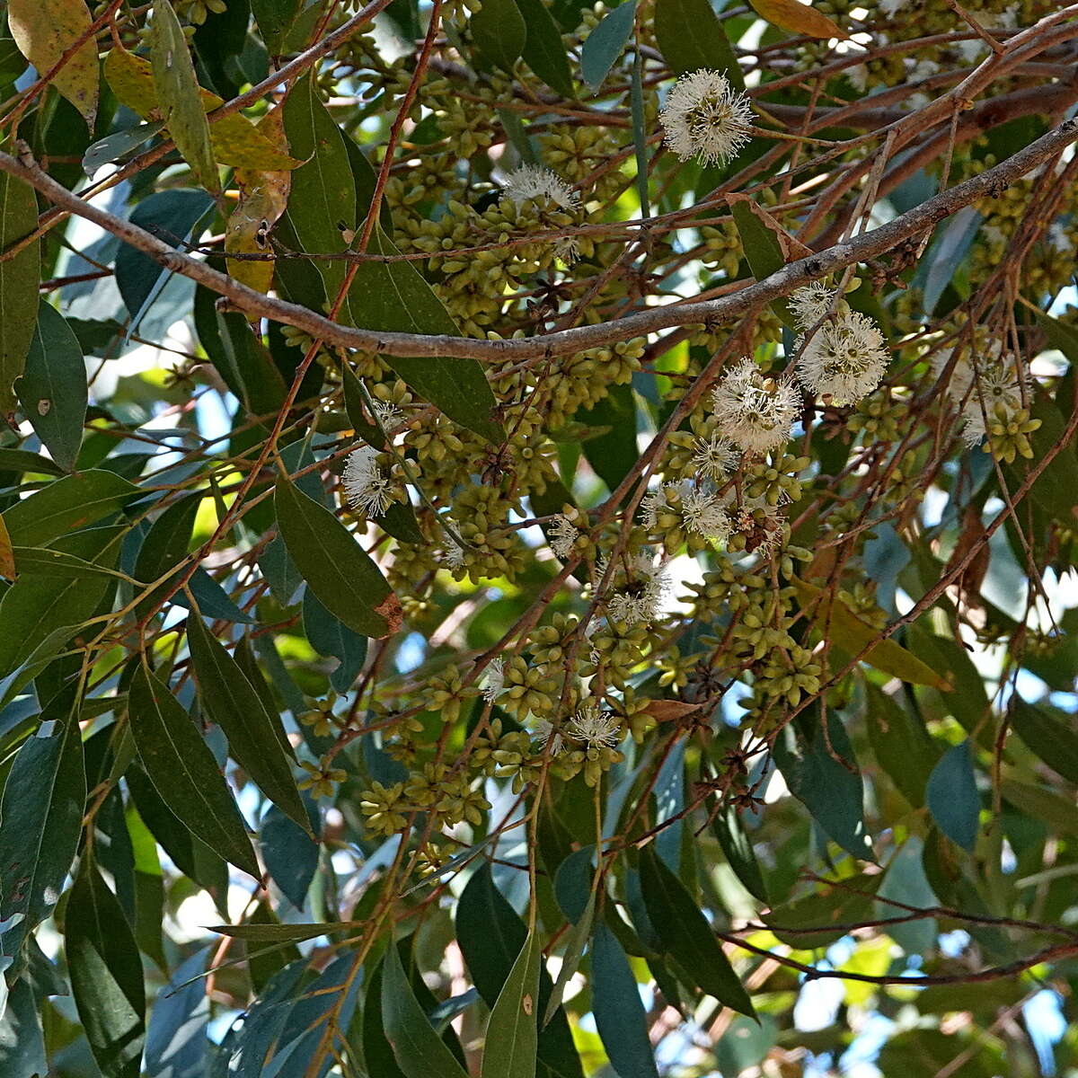
[[[271,141],[285,139],[280,109],[267,112],[257,128]],[[291,172],[255,171],[237,168],[236,186],[239,201],[229,217],[224,230],[224,250],[229,254],[268,253],[266,235],[285,212],[288,192],[292,185]],[[257,292],[268,292],[273,282],[273,262],[258,259],[229,259],[229,273]]]

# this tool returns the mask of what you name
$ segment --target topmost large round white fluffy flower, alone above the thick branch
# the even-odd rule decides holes
[[[659,119],[681,161],[699,155],[705,164],[724,165],[751,135],[752,107],[724,74],[703,68],[678,79]]]

